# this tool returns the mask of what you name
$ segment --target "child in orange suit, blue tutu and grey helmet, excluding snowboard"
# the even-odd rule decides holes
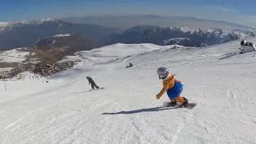
[[[188,106],[188,100],[180,95],[183,90],[182,82],[174,78],[175,74],[169,74],[166,67],[159,67],[157,74],[159,79],[162,79],[163,88],[156,98],[161,98],[166,92],[170,98],[170,106],[176,106],[177,102],[182,103],[184,107]]]

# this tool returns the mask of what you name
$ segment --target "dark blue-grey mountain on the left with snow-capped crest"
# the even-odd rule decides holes
[[[0,22],[0,50],[32,46],[38,39],[56,34],[80,34],[99,46],[101,38],[120,31],[112,27],[76,24],[50,18],[34,22]]]

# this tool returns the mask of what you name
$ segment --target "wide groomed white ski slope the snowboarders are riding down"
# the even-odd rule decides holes
[[[178,49],[117,44],[80,52],[75,58],[85,62],[48,83],[8,81],[4,90],[2,82],[0,142],[253,144],[255,54],[224,58],[239,42]],[[134,67],[126,69],[129,62]],[[182,95],[197,103],[194,109],[162,107],[168,98],[155,98],[162,89],[158,66],[182,81]],[[106,88],[88,91],[87,75]]]

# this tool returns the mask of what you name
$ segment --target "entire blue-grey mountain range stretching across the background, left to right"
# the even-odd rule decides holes
[[[158,16],[152,15],[144,15],[143,17],[158,18]],[[90,50],[91,48],[98,48],[114,43],[153,43],[160,46],[172,44],[182,46],[210,46],[238,38],[256,36],[256,30],[254,29],[235,24],[234,26],[241,27],[241,29],[194,29],[190,27],[162,27],[154,25],[138,25],[129,29],[120,29],[114,26],[106,27],[96,24],[72,23],[51,18],[32,22],[0,22],[0,50],[37,46],[34,45],[36,42],[46,42],[45,44],[47,45],[47,42],[50,41],[45,41],[44,39],[49,39],[56,34],[77,35],[76,38],[79,39],[78,41],[82,45],[78,49],[75,48],[73,50]],[[74,46],[74,44],[70,46]],[[90,47],[82,48],[81,46]]]

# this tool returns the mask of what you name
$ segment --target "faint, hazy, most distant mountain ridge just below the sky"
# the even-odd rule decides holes
[[[213,21],[191,17],[166,17],[160,15],[124,15],[124,16],[102,16],[102,17],[74,17],[62,18],[66,22],[90,23],[100,26],[114,26],[121,29],[128,29],[138,25],[151,25],[161,27],[190,27],[194,29],[221,28],[252,29],[250,26],[242,26],[231,22]]]

